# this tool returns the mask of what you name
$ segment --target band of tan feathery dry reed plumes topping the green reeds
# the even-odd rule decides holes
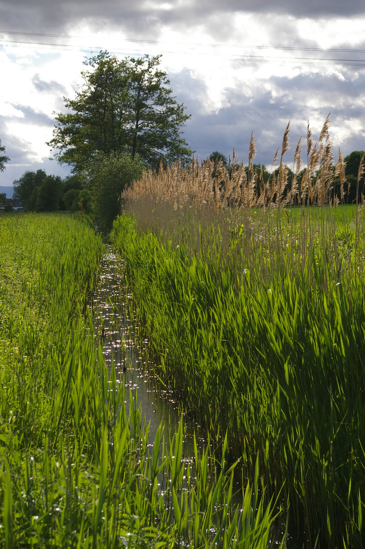
[[[288,183],[289,169],[283,162],[283,156],[289,150],[288,122],[283,135],[280,153],[279,170],[265,183],[262,168],[260,172],[254,170],[254,158],[256,155],[256,143],[254,133],[251,133],[249,144],[248,165],[239,163],[235,150],[229,155],[228,168],[222,160],[216,164],[207,159],[199,161],[193,156],[192,164],[183,168],[180,162],[167,165],[166,169],[160,165],[158,172],[147,169],[139,181],[134,181],[132,186],[125,189],[121,195],[123,203],[133,203],[144,197],[150,197],[155,202],[170,202],[174,208],[195,206],[208,207],[215,212],[229,209],[231,212],[239,209],[250,209],[254,206],[266,208],[281,208],[292,205],[299,200],[301,205],[330,204],[334,207],[338,199],[330,193],[334,186],[334,177],[340,176],[341,200],[344,200],[346,182],[345,165],[340,153],[339,160],[333,166],[332,143],[329,138],[330,115],[322,126],[318,141],[313,143],[312,130],[307,124],[307,166],[300,180],[302,166],[301,139],[297,142],[294,152],[295,173]],[[274,155],[272,168],[276,164],[279,148]],[[362,160],[360,175],[365,172],[365,159]]]

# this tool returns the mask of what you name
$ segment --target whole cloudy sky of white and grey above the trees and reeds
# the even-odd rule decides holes
[[[233,147],[246,162],[251,131],[268,166],[290,120],[307,120],[349,154],[365,149],[365,6],[360,0],[0,0],[0,186],[26,170],[67,175],[46,145],[54,111],[82,84],[82,61],[162,53],[199,158]],[[293,150],[287,154],[290,165]]]

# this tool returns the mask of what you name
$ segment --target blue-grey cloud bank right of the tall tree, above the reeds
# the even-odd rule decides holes
[[[291,150],[284,160],[293,162],[294,149],[299,137],[305,137],[307,120],[313,129],[313,137],[319,133],[329,111],[332,111],[334,127],[353,126],[353,134],[340,143],[334,142],[334,152],[338,147],[349,154],[352,150],[365,150],[364,132],[357,131],[358,122],[365,125],[363,89],[365,75],[355,80],[341,80],[336,75],[322,74],[311,77],[299,75],[295,78],[269,77],[265,84],[271,91],[263,89],[257,82],[252,96],[239,89],[226,89],[225,98],[229,104],[217,113],[204,112],[203,102],[207,88],[204,83],[189,76],[187,71],[173,75],[171,84],[178,91],[177,100],[184,102],[187,112],[192,114],[184,128],[184,137],[190,147],[196,150],[200,159],[205,159],[214,150],[228,157],[233,147],[244,163],[248,160],[251,131],[257,143],[255,161],[271,166],[273,156],[282,145],[283,133],[290,120]],[[317,107],[311,107],[311,98],[316,97]],[[330,131],[331,135],[331,131]]]

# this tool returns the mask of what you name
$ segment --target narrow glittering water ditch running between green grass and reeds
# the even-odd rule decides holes
[[[133,311],[133,296],[127,292],[125,267],[123,259],[113,247],[105,245],[105,255],[100,262],[98,283],[92,299],[92,314],[94,330],[98,341],[102,345],[105,362],[110,365],[114,362],[117,379],[125,387],[125,404],[128,413],[130,406],[129,391],[136,397],[136,405],[141,406],[142,418],[150,424],[150,444],[153,446],[155,433],[159,425],[164,425],[166,442],[169,433],[175,434],[178,430],[180,413],[172,391],[162,387],[161,382],[150,367],[148,361],[148,340],[143,345],[137,343],[139,324],[136,315],[129,315]],[[194,462],[194,432],[198,446],[202,449],[206,445],[203,436],[199,436],[199,425],[184,417],[184,461]],[[242,503],[242,476],[240,468],[234,482],[234,501]],[[279,531],[283,533],[285,524],[280,520]],[[288,536],[288,547],[296,549],[299,545],[293,544]],[[291,541],[291,543],[290,543]],[[275,546],[276,544],[274,544]]]

